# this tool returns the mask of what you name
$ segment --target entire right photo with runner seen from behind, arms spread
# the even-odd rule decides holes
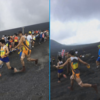
[[[50,1],[51,100],[100,100],[100,1]]]

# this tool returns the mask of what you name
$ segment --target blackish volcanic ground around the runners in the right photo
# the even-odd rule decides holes
[[[83,52],[83,49],[85,53]],[[87,69],[85,65],[79,64],[81,72],[80,77],[84,83],[96,83],[98,85],[99,93],[96,94],[92,88],[81,88],[76,82],[74,82],[74,91],[70,91],[68,89],[68,86],[70,86],[70,75],[67,76],[67,79],[62,78],[61,83],[58,83],[57,69],[51,66],[51,100],[100,100],[100,67],[97,69],[95,64],[98,57],[97,44],[88,45],[83,49],[78,49],[79,54],[91,54],[91,56],[83,59],[90,64],[91,68]],[[57,57],[57,55],[53,56]],[[67,69],[65,66],[64,73],[66,72]]]

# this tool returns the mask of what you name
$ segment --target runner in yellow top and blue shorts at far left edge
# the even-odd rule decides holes
[[[14,73],[19,72],[16,68],[13,68],[10,66],[10,61],[8,58],[9,50],[8,50],[8,47],[5,45],[5,40],[0,40],[0,46],[1,46],[0,65],[2,65],[3,62],[5,62],[8,69],[13,70]],[[0,73],[0,76],[1,76],[1,73]]]

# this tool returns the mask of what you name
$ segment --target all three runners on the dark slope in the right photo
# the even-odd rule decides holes
[[[100,65],[100,45],[98,45],[98,48],[99,48],[99,52],[98,52],[99,57],[96,60],[97,68]],[[78,56],[76,56],[74,50],[70,50],[67,54],[65,54],[65,56],[67,56],[67,60],[64,63],[62,57],[58,56],[57,65],[53,65],[53,67],[56,67],[58,70],[58,83],[61,82],[62,76],[64,78],[67,78],[67,75],[64,74],[64,69],[63,69],[67,65],[67,69],[69,70],[70,69],[69,67],[71,67],[71,71],[72,71],[72,75],[70,76],[71,86],[68,87],[70,90],[73,90],[73,84],[75,80],[80,87],[92,87],[98,93],[97,84],[83,83],[80,78],[79,63],[86,65],[87,68],[90,68],[90,65],[87,62],[84,62]]]

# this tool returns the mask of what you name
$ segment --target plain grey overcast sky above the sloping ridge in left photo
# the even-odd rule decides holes
[[[0,0],[0,31],[49,22],[49,0]]]

